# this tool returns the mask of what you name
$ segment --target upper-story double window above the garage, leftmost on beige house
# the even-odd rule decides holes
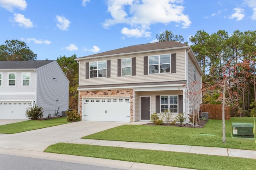
[[[90,62],[90,78],[106,77],[106,61]]]

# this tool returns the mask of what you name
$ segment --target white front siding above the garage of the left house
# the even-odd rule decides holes
[[[0,100],[35,100],[36,72],[32,70],[0,71],[3,74]],[[8,72],[16,72],[16,86],[8,86]],[[22,86],[22,72],[30,72],[30,86]]]

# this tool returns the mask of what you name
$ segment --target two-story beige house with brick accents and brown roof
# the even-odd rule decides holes
[[[82,121],[150,120],[164,109],[187,117],[202,101],[203,72],[186,44],[133,45],[76,61]]]

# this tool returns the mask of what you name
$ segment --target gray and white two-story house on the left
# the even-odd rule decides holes
[[[0,119],[28,119],[26,109],[35,105],[44,117],[61,115],[68,84],[57,61],[0,61]]]

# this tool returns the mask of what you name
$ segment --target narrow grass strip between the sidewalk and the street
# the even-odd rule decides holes
[[[57,143],[45,152],[204,170],[254,170],[255,159]]]

